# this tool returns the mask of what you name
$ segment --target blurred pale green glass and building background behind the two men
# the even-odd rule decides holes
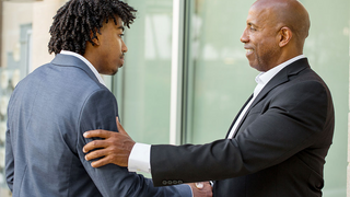
[[[304,55],[335,103],[334,144],[326,158],[325,197],[347,196],[349,0],[300,0],[312,21]],[[0,196],[7,105],[26,74],[54,56],[49,27],[66,0],[0,0]],[[145,143],[206,143],[225,137],[258,72],[240,37],[254,0],[125,0],[138,10],[126,30],[126,63],[104,76],[124,128]],[[315,4],[317,3],[317,5]],[[39,138],[39,137],[38,137]],[[349,195],[350,196],[350,195]]]

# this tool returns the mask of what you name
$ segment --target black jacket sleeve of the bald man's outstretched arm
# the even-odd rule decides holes
[[[328,89],[318,81],[298,82],[256,105],[233,139],[194,146],[152,146],[151,172],[156,186],[167,181],[224,179],[276,165],[318,141],[328,150],[334,112]],[[249,119],[249,120],[248,120]],[[327,134],[328,132],[328,134]],[[327,151],[317,152],[318,161]],[[312,160],[312,159],[310,159]],[[313,167],[313,166],[312,166]]]

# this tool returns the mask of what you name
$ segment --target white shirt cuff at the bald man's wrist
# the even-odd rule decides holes
[[[135,143],[129,155],[129,172],[151,173],[151,146]]]

